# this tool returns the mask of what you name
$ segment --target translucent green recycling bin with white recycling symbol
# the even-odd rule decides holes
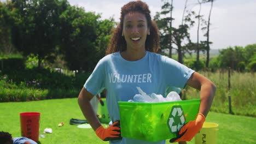
[[[200,99],[163,103],[119,101],[121,136],[160,141],[176,137],[181,127],[193,121]]]

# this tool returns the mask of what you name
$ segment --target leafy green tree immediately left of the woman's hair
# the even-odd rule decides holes
[[[114,20],[70,6],[61,14],[60,47],[69,69],[92,71],[105,50]]]

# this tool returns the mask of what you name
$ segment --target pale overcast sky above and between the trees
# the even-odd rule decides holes
[[[101,14],[101,19],[119,22],[121,7],[130,2],[126,0],[68,0],[71,5],[83,7],[85,11]],[[149,5],[151,16],[161,11],[164,4],[161,0],[144,0]],[[188,0],[188,8],[199,11],[197,0]],[[185,0],[173,0],[173,26],[181,25]],[[208,20],[211,3],[202,4],[201,15]],[[246,46],[256,43],[256,1],[255,0],[216,0],[213,3],[210,26],[211,49],[226,49],[229,46]],[[197,41],[197,23],[190,29],[190,38]],[[200,40],[206,40],[200,34]]]

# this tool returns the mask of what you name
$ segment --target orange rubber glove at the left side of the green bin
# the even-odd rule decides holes
[[[120,121],[115,121],[108,128],[104,128],[103,126],[98,127],[95,131],[96,135],[100,137],[103,141],[109,140],[121,140],[121,131],[120,131]]]

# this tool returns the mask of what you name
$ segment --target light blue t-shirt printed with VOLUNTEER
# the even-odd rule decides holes
[[[120,52],[103,57],[85,82],[84,87],[96,95],[102,89],[107,89],[107,107],[112,122],[120,120],[118,101],[128,101],[138,94],[140,87],[147,94],[165,95],[167,87],[184,88],[185,83],[194,73],[185,65],[166,56],[148,52],[138,61],[126,61]],[[122,140],[110,143],[165,143],[133,140],[123,137]]]

